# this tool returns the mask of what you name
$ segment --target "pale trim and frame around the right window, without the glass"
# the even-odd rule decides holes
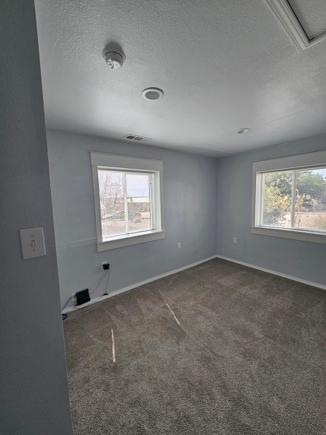
[[[293,228],[271,228],[258,225],[261,215],[261,193],[263,172],[298,170],[326,165],[326,151],[309,152],[297,156],[282,157],[279,159],[263,160],[253,163],[253,188],[251,232],[262,236],[282,237],[285,239],[303,240],[306,242],[326,244],[326,234]]]

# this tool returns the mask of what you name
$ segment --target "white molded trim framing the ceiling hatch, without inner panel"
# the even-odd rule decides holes
[[[323,32],[309,39],[287,0],[266,0],[266,3],[300,51],[303,52],[326,38],[326,32]]]

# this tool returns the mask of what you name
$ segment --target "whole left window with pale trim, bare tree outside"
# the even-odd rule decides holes
[[[97,250],[165,237],[162,162],[91,152]]]

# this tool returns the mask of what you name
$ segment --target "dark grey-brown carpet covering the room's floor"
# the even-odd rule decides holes
[[[325,435],[325,308],[215,259],[69,314],[74,435]]]

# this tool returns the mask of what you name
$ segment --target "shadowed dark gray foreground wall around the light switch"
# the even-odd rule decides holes
[[[0,7],[2,435],[72,433],[32,0]],[[22,260],[19,229],[47,255]]]

